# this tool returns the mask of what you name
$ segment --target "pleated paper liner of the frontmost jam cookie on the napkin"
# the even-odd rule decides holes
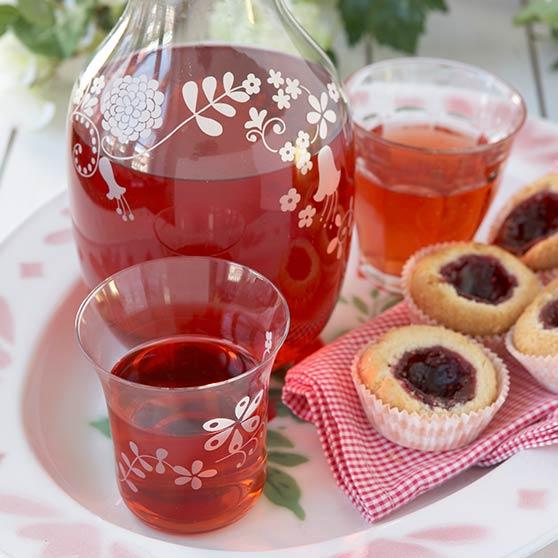
[[[470,444],[488,426],[504,404],[510,388],[510,376],[504,362],[486,347],[498,376],[498,397],[492,405],[471,413],[419,415],[383,403],[361,381],[358,363],[363,348],[355,357],[351,375],[362,408],[370,424],[385,438],[411,449],[447,451]]]

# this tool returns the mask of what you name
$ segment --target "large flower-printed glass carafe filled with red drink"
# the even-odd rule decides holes
[[[289,303],[279,362],[307,350],[345,272],[352,136],[333,66],[283,0],[129,0],[68,130],[90,287],[169,254],[237,261]]]

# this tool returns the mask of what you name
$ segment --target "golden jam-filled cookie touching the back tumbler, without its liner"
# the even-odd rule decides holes
[[[540,289],[516,257],[478,243],[440,245],[404,272],[411,304],[431,320],[469,335],[507,331]]]

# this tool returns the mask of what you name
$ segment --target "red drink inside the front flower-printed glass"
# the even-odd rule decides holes
[[[181,388],[222,382],[255,365],[252,355],[230,343],[181,336],[130,352],[112,374],[145,386]],[[138,393],[110,382],[118,484],[136,515],[158,529],[194,533],[232,523],[255,503],[265,482],[267,413],[267,397],[258,404],[255,396],[267,386],[250,386],[239,393],[211,387],[197,394]],[[249,401],[240,404],[249,392]],[[203,428],[218,419],[228,422]],[[208,441],[219,433],[208,451]]]

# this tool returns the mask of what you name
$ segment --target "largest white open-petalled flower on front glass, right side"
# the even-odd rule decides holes
[[[203,423],[205,431],[214,433],[203,446],[206,451],[219,449],[230,438],[228,454],[218,459],[216,463],[237,456],[240,461],[236,464],[236,468],[239,469],[246,462],[248,455],[256,451],[260,440],[258,430],[262,422],[260,416],[255,413],[262,402],[263,393],[263,389],[260,390],[252,400],[248,395],[243,397],[234,409],[235,418],[218,417]],[[249,435],[247,441],[244,439],[246,434]],[[246,451],[248,447],[250,449]]]

